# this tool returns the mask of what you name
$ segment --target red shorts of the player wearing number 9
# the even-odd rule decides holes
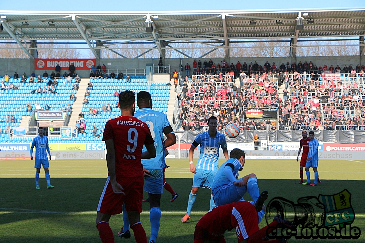
[[[143,176],[117,177],[116,181],[124,188],[125,195],[115,194],[110,184],[110,177],[105,183],[96,211],[116,215],[122,213],[123,202],[127,211],[142,212]]]

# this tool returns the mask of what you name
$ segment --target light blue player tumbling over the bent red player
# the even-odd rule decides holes
[[[243,200],[243,196],[248,192],[257,211],[261,211],[262,204],[268,198],[268,192],[263,191],[260,194],[256,175],[249,174],[237,179],[238,171],[245,165],[245,155],[245,151],[234,148],[230,153],[230,159],[219,167],[212,187],[214,202],[217,206],[238,202]]]

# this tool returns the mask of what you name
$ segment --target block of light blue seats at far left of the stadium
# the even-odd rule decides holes
[[[23,116],[30,116],[37,110],[63,110],[72,112],[72,93],[76,92],[74,79],[39,77],[14,78],[5,75],[0,81],[0,142],[30,142],[31,138],[13,137],[12,130],[18,127]],[[14,118],[12,118],[14,117]]]

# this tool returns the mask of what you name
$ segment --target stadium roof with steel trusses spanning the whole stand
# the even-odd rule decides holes
[[[93,50],[143,40],[156,48],[169,42],[220,43],[234,39],[338,37],[365,35],[365,9],[224,11],[1,11],[2,39],[84,40]],[[153,32],[146,32],[146,18]],[[158,18],[157,18],[158,16]],[[303,30],[297,29],[298,18]],[[97,46],[93,43],[98,42]],[[207,42],[205,42],[207,43]],[[101,47],[102,46],[102,47]],[[27,53],[28,54],[28,53]]]

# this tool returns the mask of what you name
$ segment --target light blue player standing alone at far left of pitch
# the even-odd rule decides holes
[[[30,159],[33,160],[33,148],[35,147],[35,189],[41,189],[39,187],[39,173],[41,172],[41,166],[45,169],[47,189],[53,189],[54,186],[50,183],[49,176],[49,162],[47,158],[47,152],[49,154],[49,160],[51,160],[51,152],[49,151],[48,138],[43,136],[43,127],[38,128],[38,136],[36,136],[32,141],[32,147],[30,148]]]

